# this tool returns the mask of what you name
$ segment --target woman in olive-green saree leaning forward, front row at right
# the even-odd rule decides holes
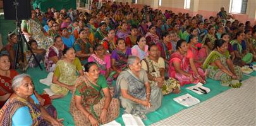
[[[228,42],[217,40],[214,50],[210,52],[203,64],[207,76],[214,80],[221,81],[222,86],[240,88],[241,83],[232,83],[232,80],[240,81],[243,77],[241,67],[233,66],[229,58]]]

